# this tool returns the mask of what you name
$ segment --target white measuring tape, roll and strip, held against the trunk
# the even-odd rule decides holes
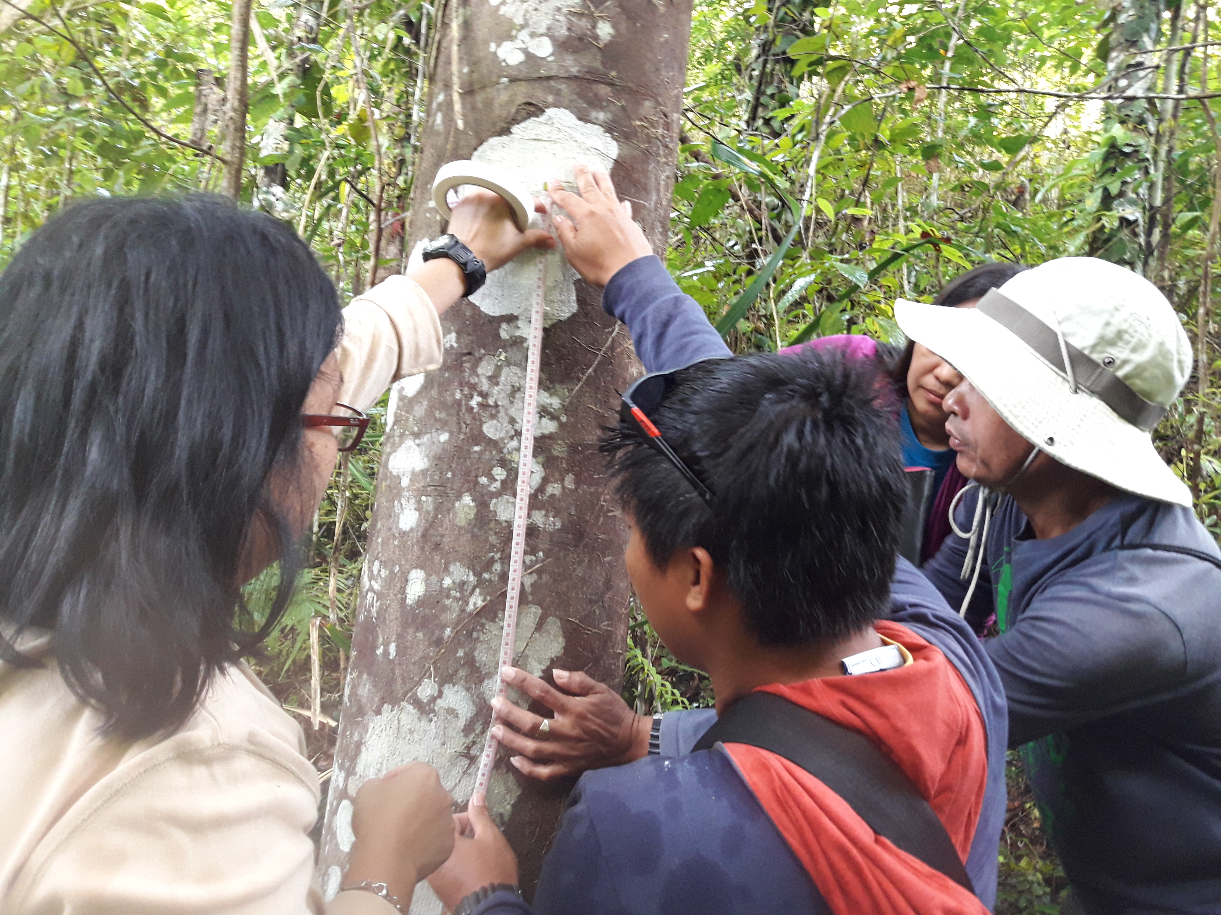
[[[446,195],[460,184],[475,184],[493,190],[505,199],[513,210],[518,228],[529,224],[534,200],[525,185],[512,173],[485,162],[449,162],[437,172],[432,183],[432,201],[444,215],[449,215]],[[501,670],[513,664],[513,647],[518,636],[518,604],[521,599],[521,576],[526,553],[526,516],[530,511],[530,471],[534,467],[534,436],[538,411],[538,366],[542,362],[543,306],[547,293],[547,254],[540,251],[538,272],[535,277],[534,299],[530,307],[530,340],[526,357],[525,406],[521,411],[521,445],[518,450],[518,494],[513,508],[513,545],[509,550],[509,583],[504,597],[504,631],[501,634],[501,654],[496,665],[496,695],[504,697],[507,687]],[[479,761],[479,775],[470,803],[485,804],[487,787],[492,780],[492,765],[499,743],[488,728],[484,743],[484,755]]]

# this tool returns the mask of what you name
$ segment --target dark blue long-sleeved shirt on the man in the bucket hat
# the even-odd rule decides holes
[[[963,498],[958,525],[974,515]],[[1189,509],[1121,494],[1060,537],[1035,539],[1001,500],[968,621],[1009,700],[1010,744],[1088,911],[1221,911],[1221,570]],[[957,608],[967,540],[923,571]]]

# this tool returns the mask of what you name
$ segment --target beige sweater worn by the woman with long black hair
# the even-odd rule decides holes
[[[425,292],[391,277],[344,309],[339,400],[365,407],[441,365]],[[53,633],[0,664],[0,914],[394,915],[365,892],[324,904],[309,831],[317,772],[300,726],[244,664],[211,684],[173,736],[99,737],[68,692]]]

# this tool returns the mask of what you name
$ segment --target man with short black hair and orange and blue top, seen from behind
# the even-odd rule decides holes
[[[625,562],[667,647],[712,678],[716,711],[683,714],[692,737],[759,693],[863,737],[930,808],[966,876],[955,882],[952,869],[875,834],[855,804],[789,759],[736,741],[687,752],[689,742],[582,776],[535,911],[983,913],[967,876],[990,903],[1004,697],[966,623],[913,567],[895,569],[906,484],[872,381],[867,366],[807,353],[706,360],[634,386],[603,445],[631,525]],[[856,673],[862,655],[886,660]],[[498,705],[510,750],[529,744],[537,759],[540,744],[589,736],[590,703],[617,702],[619,720],[636,720],[582,673],[554,676],[565,693],[508,671],[557,712]],[[631,725],[613,731],[607,744],[635,755]],[[460,814],[457,832],[430,878],[444,905],[529,911],[486,809]]]

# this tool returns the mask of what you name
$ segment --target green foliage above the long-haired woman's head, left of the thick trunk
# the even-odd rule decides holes
[[[420,0],[376,0],[349,21],[346,2],[271,0],[254,16],[243,200],[299,227],[344,292],[366,283],[377,188],[383,222],[410,190],[422,10]],[[33,0],[28,12],[39,22],[17,17],[0,33],[0,150],[9,166],[0,266],[72,198],[217,188],[221,165],[189,144],[221,146],[228,2]],[[192,140],[198,70],[221,85]],[[379,116],[380,176],[361,74]],[[402,222],[385,235],[383,256],[397,257]]]

